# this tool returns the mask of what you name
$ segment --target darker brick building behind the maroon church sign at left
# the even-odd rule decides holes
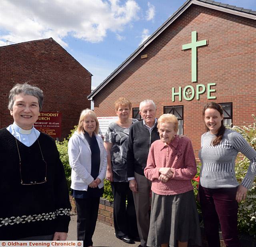
[[[8,94],[16,83],[30,81],[44,92],[42,111],[62,113],[62,138],[90,108],[92,74],[52,38],[0,47],[0,128],[13,122]]]

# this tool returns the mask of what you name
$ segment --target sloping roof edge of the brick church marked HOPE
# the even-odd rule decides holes
[[[100,92],[118,73],[122,71],[144,48],[149,45],[156,37],[158,37],[174,20],[176,20],[189,6],[196,4],[206,8],[212,8],[229,14],[242,16],[252,20],[256,20],[256,11],[236,7],[229,4],[222,4],[211,0],[187,0],[184,4],[170,16],[144,43],[142,43],[129,57],[127,57],[96,89],[87,96],[87,99],[92,100],[93,97]]]

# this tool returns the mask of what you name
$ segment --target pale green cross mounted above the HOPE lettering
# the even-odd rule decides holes
[[[206,45],[206,40],[196,41],[196,31],[191,32],[191,43],[182,45],[182,50],[191,49],[191,81],[196,81],[196,47]]]

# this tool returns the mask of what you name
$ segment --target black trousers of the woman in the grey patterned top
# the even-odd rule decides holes
[[[129,182],[111,182],[114,196],[114,228],[117,238],[138,238],[136,212]],[[127,206],[126,206],[127,200]]]

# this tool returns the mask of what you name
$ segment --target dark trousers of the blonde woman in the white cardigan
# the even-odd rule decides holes
[[[77,211],[77,240],[84,241],[84,247],[92,245],[92,235],[96,227],[99,197],[75,198]]]

